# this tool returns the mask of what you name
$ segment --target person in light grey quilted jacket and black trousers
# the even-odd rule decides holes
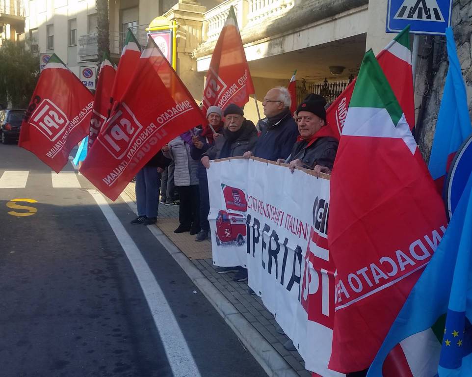
[[[187,132],[162,148],[164,156],[174,161],[174,185],[179,192],[179,223],[174,233],[200,232],[200,193],[198,189],[198,161],[190,156],[191,133]]]

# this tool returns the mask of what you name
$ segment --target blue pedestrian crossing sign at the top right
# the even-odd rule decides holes
[[[452,0],[388,0],[388,33],[399,33],[407,25],[413,34],[442,34],[450,26]]]

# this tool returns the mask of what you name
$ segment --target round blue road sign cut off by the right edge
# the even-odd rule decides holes
[[[447,217],[454,213],[462,192],[467,185],[467,180],[472,174],[472,135],[464,141],[457,151],[454,160],[449,167],[449,174],[446,178],[446,208]]]

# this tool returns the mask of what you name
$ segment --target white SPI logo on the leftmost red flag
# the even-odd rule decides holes
[[[54,141],[69,123],[66,114],[49,99],[44,99],[31,116],[29,123],[49,140]]]

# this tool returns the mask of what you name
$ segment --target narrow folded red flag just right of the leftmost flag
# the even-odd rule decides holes
[[[100,129],[108,117],[110,107],[111,89],[115,80],[115,67],[108,56],[104,56],[98,76],[97,90],[93,101],[93,114],[90,121],[90,134],[88,135],[88,149],[92,147]]]

